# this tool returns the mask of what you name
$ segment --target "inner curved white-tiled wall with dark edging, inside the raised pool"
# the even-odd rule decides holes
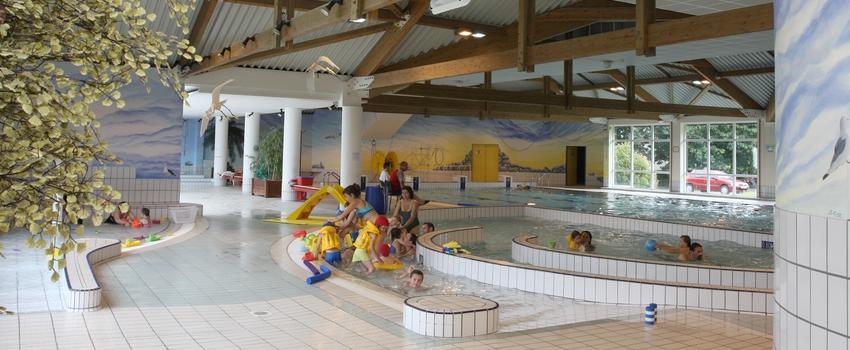
[[[769,289],[773,271],[767,269],[680,264],[675,262],[607,257],[550,249],[538,244],[534,235],[514,237],[511,257],[517,262],[570,272],[654,280],[669,284]]]

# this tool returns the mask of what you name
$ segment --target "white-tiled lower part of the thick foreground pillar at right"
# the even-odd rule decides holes
[[[846,219],[775,211],[775,349],[848,349]]]

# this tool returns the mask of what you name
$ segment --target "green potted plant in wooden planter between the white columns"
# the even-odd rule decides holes
[[[283,171],[283,130],[270,131],[257,148],[257,159],[251,170],[254,181],[251,194],[263,197],[280,197]]]

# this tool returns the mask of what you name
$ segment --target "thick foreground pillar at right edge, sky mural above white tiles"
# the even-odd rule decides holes
[[[850,8],[774,8],[774,349],[850,349],[850,90],[833,79],[850,73],[850,39],[832,26]]]

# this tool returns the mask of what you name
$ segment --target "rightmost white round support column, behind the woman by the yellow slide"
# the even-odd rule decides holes
[[[360,141],[363,130],[363,107],[360,103],[342,106],[342,153],[340,183],[342,187],[360,183]]]

